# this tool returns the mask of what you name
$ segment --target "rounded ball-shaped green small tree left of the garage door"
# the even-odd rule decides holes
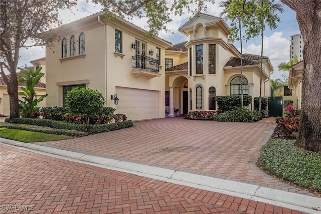
[[[85,114],[86,124],[89,124],[89,116],[102,110],[105,98],[97,90],[74,88],[68,91],[65,103],[71,113]]]

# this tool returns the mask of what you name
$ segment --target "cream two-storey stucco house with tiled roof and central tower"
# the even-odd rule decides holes
[[[215,97],[241,94],[240,84],[259,96],[261,57],[241,56],[228,30],[221,18],[200,14],[179,29],[187,42],[172,45],[125,20],[105,21],[103,12],[53,29],[60,40],[46,48],[46,105],[63,106],[69,90],[87,87],[116,113],[145,120],[216,110]],[[272,72],[263,57],[262,96],[270,95]]]

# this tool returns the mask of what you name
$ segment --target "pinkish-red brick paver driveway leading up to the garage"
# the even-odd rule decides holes
[[[243,182],[277,185],[255,167],[256,151],[273,125],[185,120],[134,122],[134,127],[39,145],[108,158],[171,167]],[[251,159],[252,158],[252,159]]]

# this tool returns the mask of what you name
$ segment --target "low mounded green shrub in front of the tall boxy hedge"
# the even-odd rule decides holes
[[[257,122],[260,119],[261,115],[258,111],[244,107],[225,111],[214,117],[214,120],[222,122]]]

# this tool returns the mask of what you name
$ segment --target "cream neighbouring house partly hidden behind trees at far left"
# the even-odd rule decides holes
[[[46,58],[36,59],[30,62],[34,69],[42,67],[41,72],[46,74]],[[19,76],[20,73],[17,73]],[[8,80],[10,81],[11,76],[10,74],[7,75]],[[21,87],[26,87],[26,84],[18,83],[18,92],[22,92]],[[46,78],[43,77],[40,79],[39,83],[35,86],[35,92],[37,95],[45,95],[46,94]],[[22,96],[19,95],[19,99]],[[9,94],[7,92],[7,84],[3,77],[0,76],[0,98],[2,102],[0,104],[0,114],[9,116],[10,115],[10,103],[9,103]],[[45,107],[46,106],[46,98],[38,104],[38,107]]]

